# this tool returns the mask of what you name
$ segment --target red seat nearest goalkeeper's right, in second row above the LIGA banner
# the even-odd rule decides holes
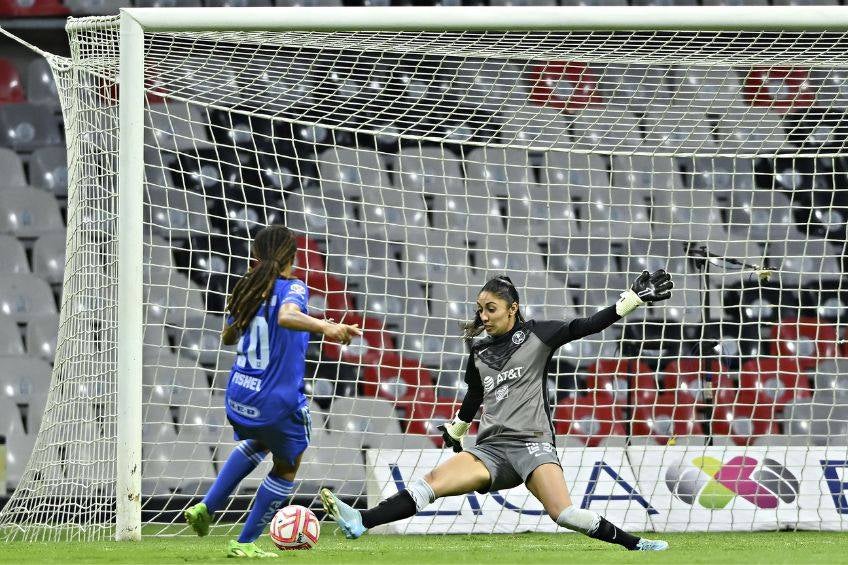
[[[587,372],[586,387],[611,394],[618,405],[650,404],[657,396],[654,372],[638,359],[598,359]]]

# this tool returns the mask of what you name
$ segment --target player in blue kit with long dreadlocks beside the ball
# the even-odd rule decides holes
[[[221,334],[225,345],[238,343],[226,392],[227,419],[240,440],[203,501],[186,510],[199,536],[209,533],[216,510],[236,485],[270,451],[274,467],[262,481],[238,541],[228,557],[276,557],[254,542],[294,488],[300,459],[309,445],[311,419],[303,375],[309,333],[349,343],[362,335],[354,325],[317,320],[306,314],[306,285],[292,278],[297,246],[283,226],[262,229],[251,248],[252,267],[227,301],[230,316]]]

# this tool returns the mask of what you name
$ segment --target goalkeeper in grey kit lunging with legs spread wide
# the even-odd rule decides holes
[[[665,541],[636,537],[572,504],[554,444],[546,367],[562,345],[603,331],[646,302],[668,299],[672,287],[665,271],[643,271],[615,305],[561,322],[525,320],[512,281],[489,280],[477,297],[474,320],[465,324],[466,339],[483,330],[487,337],[471,346],[465,373],[468,392],[459,412],[439,426],[445,444],[457,454],[367,510],[356,510],[322,489],[327,514],[346,537],[355,539],[375,526],[414,516],[437,498],[524,483],[551,520],[564,528],[629,550],[667,549]],[[463,450],[462,438],[481,405],[485,410],[477,443]]]

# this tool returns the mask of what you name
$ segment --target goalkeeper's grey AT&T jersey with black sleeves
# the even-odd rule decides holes
[[[477,443],[497,436],[554,443],[548,398],[548,362],[562,345],[602,331],[620,316],[615,307],[568,322],[529,320],[508,333],[474,344],[465,371],[468,393],[460,419],[470,422],[480,404]]]

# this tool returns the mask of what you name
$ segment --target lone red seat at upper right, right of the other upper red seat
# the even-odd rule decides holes
[[[816,98],[810,72],[788,67],[751,69],[745,77],[742,93],[751,106],[763,106],[781,113],[812,106]]]

